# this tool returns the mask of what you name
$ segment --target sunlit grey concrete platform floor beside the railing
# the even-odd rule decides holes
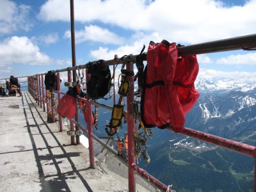
[[[128,191],[88,150],[70,145],[67,130],[47,116],[28,92],[0,98],[0,191]]]

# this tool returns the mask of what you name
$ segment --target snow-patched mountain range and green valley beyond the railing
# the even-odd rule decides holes
[[[256,84],[197,81],[200,98],[186,127],[255,146]],[[154,128],[150,164],[141,166],[176,191],[253,191],[254,159]]]

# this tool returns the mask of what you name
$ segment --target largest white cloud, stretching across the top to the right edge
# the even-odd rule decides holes
[[[166,40],[188,44],[256,31],[256,0],[243,6],[225,6],[214,0],[76,0],[74,5],[76,21],[97,20],[133,31],[154,31]],[[69,9],[69,2],[47,1],[38,17],[69,22]]]

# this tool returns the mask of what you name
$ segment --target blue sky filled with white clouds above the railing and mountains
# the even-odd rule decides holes
[[[256,33],[256,0],[74,0],[77,65]],[[0,79],[72,66],[70,1],[0,0]],[[198,55],[199,77],[256,82],[256,52]]]

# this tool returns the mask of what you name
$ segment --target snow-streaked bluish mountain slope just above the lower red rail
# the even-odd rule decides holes
[[[186,126],[226,138],[256,134],[256,88],[209,93],[186,115]]]

